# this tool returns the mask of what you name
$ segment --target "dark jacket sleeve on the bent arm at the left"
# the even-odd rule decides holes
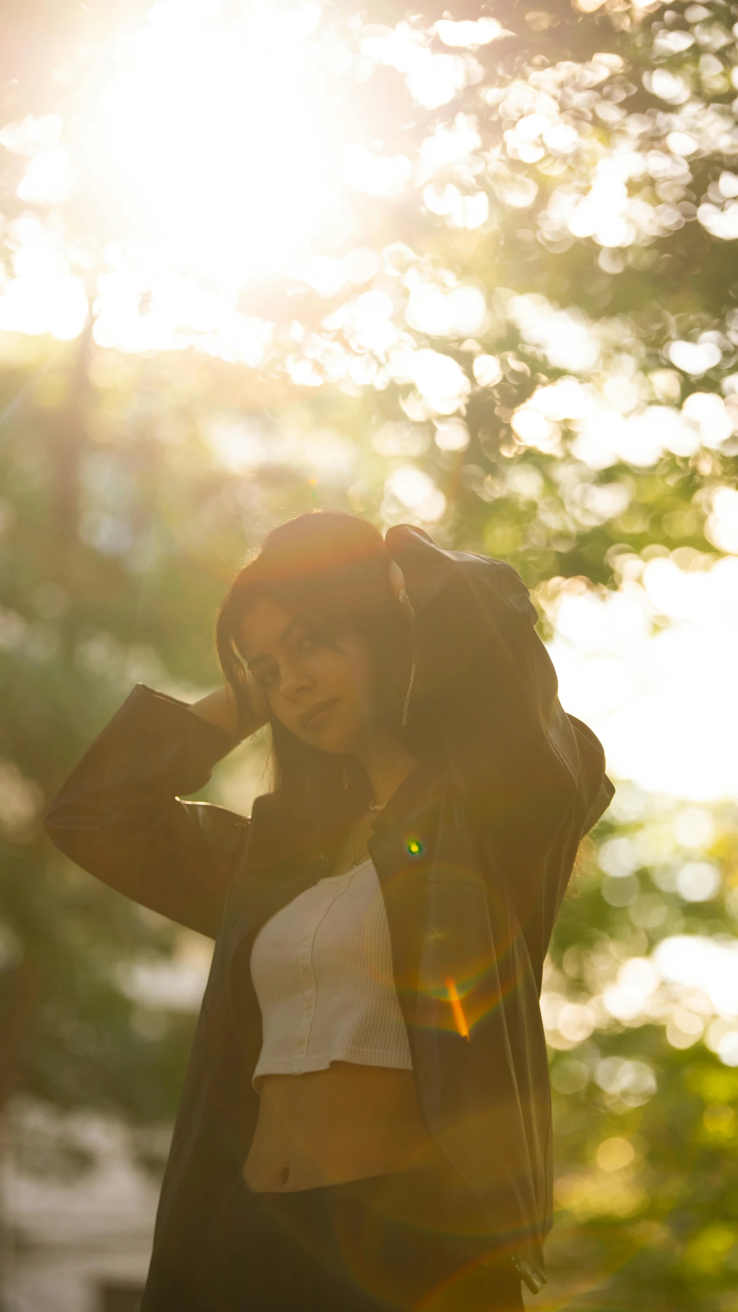
[[[49,837],[112,888],[214,938],[248,820],[179,794],[201,789],[235,745],[139,684],[49,807]]]

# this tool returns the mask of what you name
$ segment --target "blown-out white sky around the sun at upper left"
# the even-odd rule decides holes
[[[223,10],[222,0],[158,0],[139,29],[112,34],[66,119],[0,125],[0,142],[26,160],[20,199],[59,213],[81,202],[88,227],[70,258],[63,223],[29,211],[11,226],[16,277],[4,293],[0,282],[0,329],[75,337],[87,312],[77,269],[87,265],[101,273],[101,345],[197,340],[256,363],[265,329],[239,306],[250,282],[276,270],[326,293],[362,281],[356,261],[310,260],[311,245],[345,243],[353,197],[395,195],[412,169],[406,156],[347,138],[331,77],[356,72],[357,59],[358,80],[372,64],[391,64],[416,102],[435,108],[464,87],[464,59],[431,52],[403,24],[370,29],[361,55],[324,31],[316,41],[314,0],[253,0],[240,17]],[[437,26],[449,47],[502,31],[490,18]],[[487,211],[477,210],[461,226],[478,226]]]

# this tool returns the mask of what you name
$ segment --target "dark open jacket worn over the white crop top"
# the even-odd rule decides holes
[[[486,1210],[490,1246],[506,1248],[536,1291],[552,1221],[541,972],[576,848],[613,786],[600,743],[558,702],[520,576],[499,560],[441,551],[404,525],[386,546],[415,611],[408,726],[433,743],[369,841],[418,1099]],[[139,685],[47,815],[53,841],[85,870],[215,938],[146,1312],[192,1305],[209,1220],[248,1153],[261,1044],[253,938],[336,855],[337,829],[315,837],[307,820],[285,815],[278,792],[257,798],[250,820],[179,800],[232,747],[184,703]],[[336,816],[351,820],[340,798]]]

